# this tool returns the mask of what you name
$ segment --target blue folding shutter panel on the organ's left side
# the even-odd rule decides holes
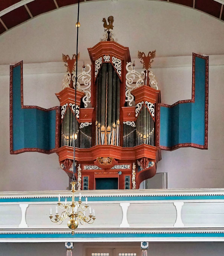
[[[12,138],[13,151],[55,148],[56,110],[21,108],[21,65],[12,69]]]

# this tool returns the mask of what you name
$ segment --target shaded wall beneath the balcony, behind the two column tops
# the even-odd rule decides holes
[[[132,248],[133,252],[137,253],[137,256],[141,256],[140,242],[123,243],[74,243],[73,256],[91,256],[92,252],[107,252],[113,256],[118,256],[118,253],[124,253],[130,251],[128,248]],[[62,242],[49,242],[49,243],[0,243],[0,256],[43,256],[54,255],[63,256],[66,255],[65,244]],[[89,250],[88,248],[91,248]],[[148,256],[222,256],[224,251],[223,242],[149,242]],[[109,254],[110,256],[111,253]]]

